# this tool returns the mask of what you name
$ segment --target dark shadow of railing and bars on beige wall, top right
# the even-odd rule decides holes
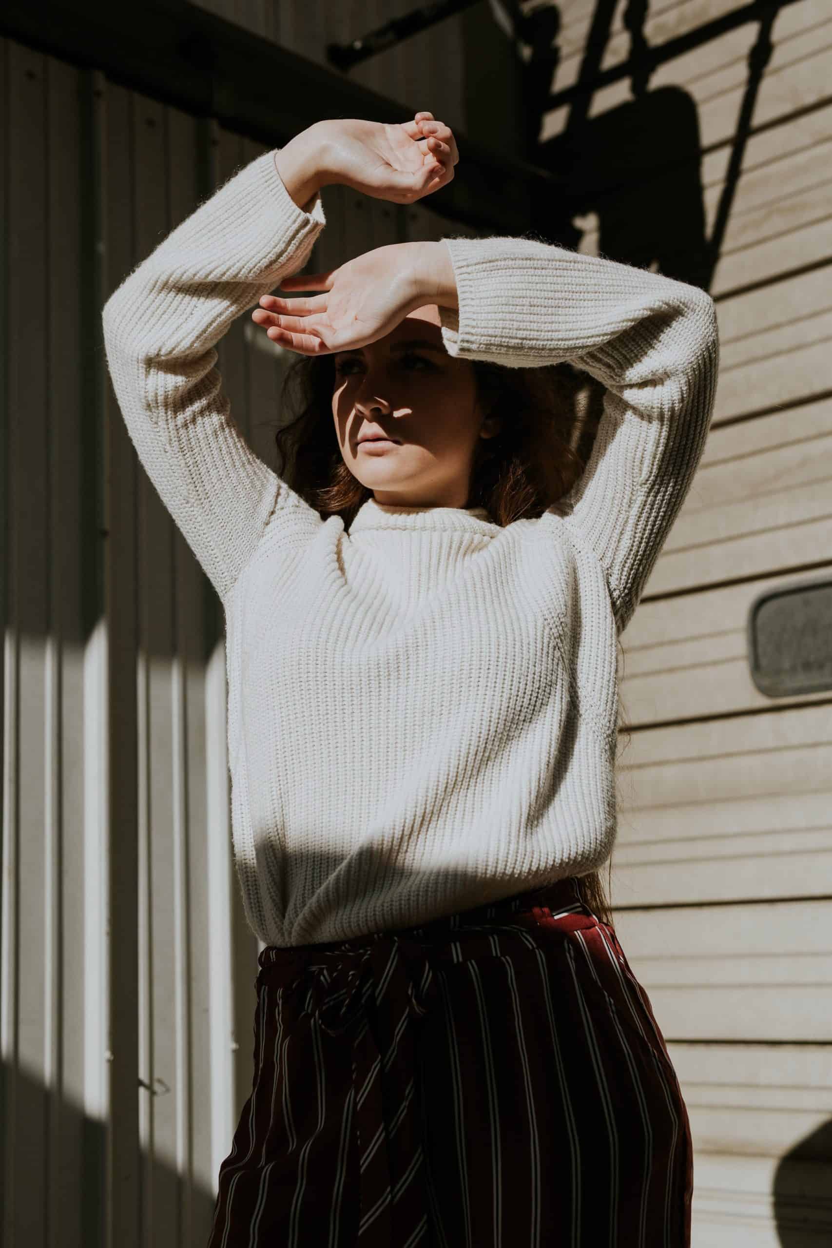
[[[722,25],[712,22],[691,31],[662,52],[651,49],[645,36],[647,0],[630,0],[624,15],[629,56],[614,71],[602,71],[617,0],[595,0],[578,74],[568,89],[553,91],[561,64],[559,7],[544,4],[521,9],[515,2],[518,37],[528,49],[523,86],[525,155],[559,181],[560,202],[554,205],[554,212],[551,205],[541,206],[535,231],[553,242],[578,247],[588,230],[597,230],[595,250],[600,255],[652,267],[710,290],[772,51],[772,26],[783,2],[788,0],[772,0],[761,9],[710,235],[696,104],[682,87],[651,90],[650,77],[657,65],[671,59],[670,51],[681,55],[717,37]],[[591,116],[599,87],[626,80],[631,99]],[[561,107],[568,110],[565,122],[553,139],[540,142],[545,115]]]

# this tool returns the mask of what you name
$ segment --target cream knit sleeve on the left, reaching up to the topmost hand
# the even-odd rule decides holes
[[[215,367],[232,321],[303,267],[326,225],[321,196],[299,208],[274,155],[263,152],[228,178],[102,311],[130,437],[221,599],[278,509],[311,510],[249,448]]]

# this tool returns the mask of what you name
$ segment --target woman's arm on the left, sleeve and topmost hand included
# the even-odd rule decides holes
[[[453,177],[430,114],[404,124],[316,122],[243,166],[110,296],[104,342],[138,458],[221,599],[266,527],[319,523],[248,447],[222,391],[216,344],[232,321],[307,262],[326,225],[319,190],[342,182],[410,203]]]

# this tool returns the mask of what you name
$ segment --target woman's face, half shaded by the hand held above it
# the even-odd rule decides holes
[[[499,432],[483,418],[474,366],[442,341],[439,310],[410,312],[384,338],[334,354],[332,414],[344,463],[378,503],[468,504],[478,439]],[[383,433],[383,442],[359,442]]]

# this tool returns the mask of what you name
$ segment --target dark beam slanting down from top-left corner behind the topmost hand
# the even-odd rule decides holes
[[[259,142],[279,146],[323,117],[405,121],[407,106],[187,0],[5,0],[0,31]],[[323,40],[322,40],[323,42]],[[410,101],[429,109],[430,100]],[[540,228],[559,180],[454,131],[454,180],[420,200],[453,221],[509,235]]]

